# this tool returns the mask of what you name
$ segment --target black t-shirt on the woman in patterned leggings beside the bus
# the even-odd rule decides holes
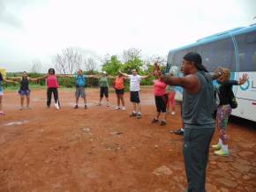
[[[230,99],[234,97],[234,93],[232,91],[233,85],[238,85],[238,82],[236,80],[224,81],[219,86],[220,105],[230,104]]]

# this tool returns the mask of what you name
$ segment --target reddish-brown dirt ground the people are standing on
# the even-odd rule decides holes
[[[183,137],[169,130],[181,127],[180,108],[164,127],[151,124],[154,97],[141,92],[142,118],[126,111],[95,106],[99,90],[88,89],[88,109],[74,92],[60,90],[62,108],[46,108],[46,91],[33,91],[30,110],[19,110],[16,92],[4,93],[0,117],[0,191],[16,192],[179,192],[186,179]],[[105,100],[104,100],[105,101]],[[233,118],[228,126],[230,156],[210,150],[208,192],[256,191],[256,124]],[[214,142],[217,141],[215,132]]]

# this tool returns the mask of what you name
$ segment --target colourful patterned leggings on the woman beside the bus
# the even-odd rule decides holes
[[[227,141],[227,124],[232,108],[230,105],[222,105],[217,108],[217,128],[219,129],[220,139]]]

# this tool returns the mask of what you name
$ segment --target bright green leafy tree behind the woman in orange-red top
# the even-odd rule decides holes
[[[109,75],[117,75],[121,69],[122,63],[118,60],[117,55],[112,55],[109,60],[106,60],[102,65],[102,71],[106,71]]]

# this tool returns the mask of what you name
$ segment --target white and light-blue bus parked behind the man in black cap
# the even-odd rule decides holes
[[[256,122],[256,24],[216,33],[169,50],[166,72],[172,68],[180,69],[183,56],[191,51],[202,56],[203,64],[210,72],[226,67],[230,69],[230,79],[234,80],[243,73],[248,74],[249,79],[244,85],[233,86],[238,106],[232,110],[232,115]],[[180,92],[182,89],[177,93]]]

